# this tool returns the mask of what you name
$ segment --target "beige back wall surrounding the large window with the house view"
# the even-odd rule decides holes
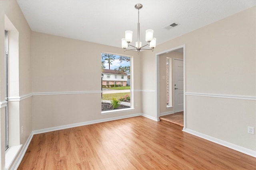
[[[102,52],[134,56],[133,89],[140,90],[136,51],[32,32],[33,92],[85,92],[33,96],[33,130],[141,113],[140,93],[134,92],[134,111],[100,114]]]

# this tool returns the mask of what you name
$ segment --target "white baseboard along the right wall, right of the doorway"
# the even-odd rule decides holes
[[[256,158],[256,151],[254,151],[254,150],[250,150],[250,149],[247,149],[247,148],[244,148],[244,147],[240,147],[238,145],[234,145],[232,143],[228,143],[226,141],[222,141],[220,139],[217,139],[217,138],[214,138],[214,137],[210,137],[208,135],[205,135],[203,133],[199,133],[199,132],[196,132],[196,131],[193,131],[193,130],[190,130],[190,129],[183,129],[182,131],[184,131],[186,133],[190,133],[190,134],[195,135],[197,137],[206,139],[206,140],[211,141],[213,143],[217,143],[217,144],[222,145],[224,147],[228,147],[228,148],[236,150],[238,152],[242,152],[244,154],[248,154],[248,155],[253,156],[253,157]]]

